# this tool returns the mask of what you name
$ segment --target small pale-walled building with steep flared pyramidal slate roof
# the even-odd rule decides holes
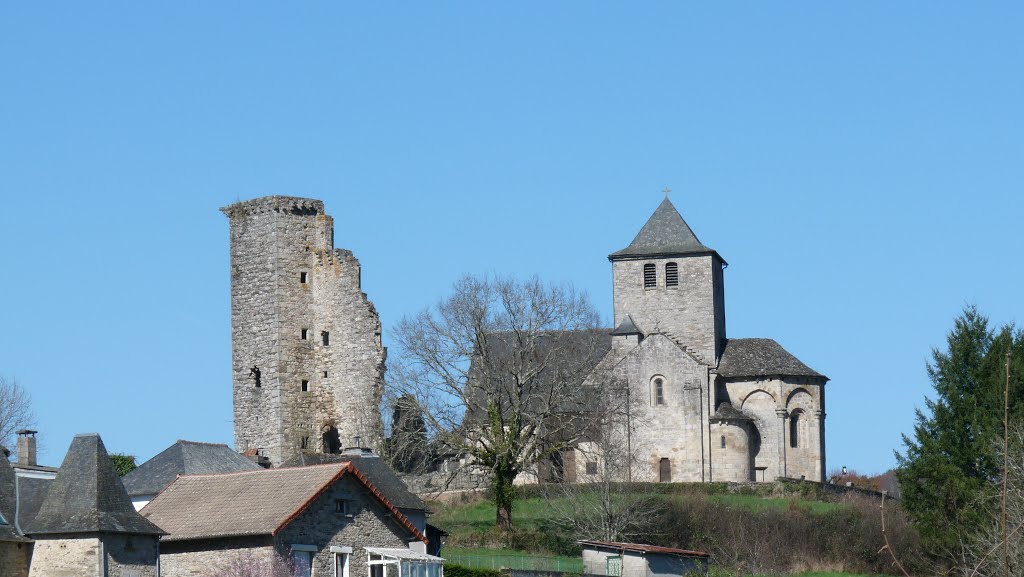
[[[30,577],[158,577],[159,527],[132,506],[99,436],[78,435],[39,512]]]

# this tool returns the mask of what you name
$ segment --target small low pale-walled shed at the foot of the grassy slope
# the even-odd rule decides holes
[[[584,574],[607,577],[684,577],[708,575],[711,555],[699,551],[617,543],[579,541]]]

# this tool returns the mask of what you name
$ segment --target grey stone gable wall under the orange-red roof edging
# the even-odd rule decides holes
[[[349,514],[336,510],[336,501],[348,501]],[[302,516],[278,534],[280,550],[291,545],[316,547],[313,575],[334,575],[331,547],[351,547],[349,577],[369,577],[367,551],[362,548],[407,548],[412,535],[358,481],[349,476],[317,497]]]

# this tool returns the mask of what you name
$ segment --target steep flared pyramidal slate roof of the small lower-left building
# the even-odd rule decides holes
[[[39,513],[22,529],[29,536],[76,533],[162,535],[132,506],[98,435],[71,442]]]

